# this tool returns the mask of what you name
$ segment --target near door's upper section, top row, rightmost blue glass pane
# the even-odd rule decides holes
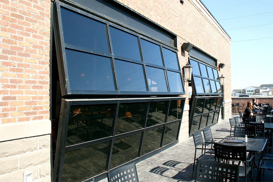
[[[162,54],[163,54],[165,67],[179,70],[178,60],[177,60],[175,52],[172,52],[168,49],[162,48]]]

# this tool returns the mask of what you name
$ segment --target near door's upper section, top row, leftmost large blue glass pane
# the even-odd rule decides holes
[[[105,24],[61,8],[65,43],[109,53]]]

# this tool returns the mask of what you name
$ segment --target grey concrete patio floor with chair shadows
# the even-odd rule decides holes
[[[236,116],[236,115],[233,115]],[[229,119],[222,120],[211,127],[214,138],[223,138],[230,135]],[[203,135],[203,133],[202,133]],[[203,136],[204,137],[204,136]],[[204,140],[204,138],[203,138]],[[140,163],[136,164],[139,181],[141,182],[179,182],[192,180],[192,168],[194,160],[194,141],[190,137],[185,141],[166,149],[165,151],[154,155]],[[201,155],[201,150],[196,156]],[[256,155],[256,164],[260,154]],[[253,180],[256,181],[257,169],[253,170]],[[101,180],[106,182],[107,179]],[[240,177],[239,181],[244,181]],[[251,181],[248,176],[247,181]],[[273,171],[266,170],[261,181],[273,181]]]

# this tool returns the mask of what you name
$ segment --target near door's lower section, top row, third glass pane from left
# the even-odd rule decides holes
[[[150,102],[146,127],[165,122],[169,101]]]

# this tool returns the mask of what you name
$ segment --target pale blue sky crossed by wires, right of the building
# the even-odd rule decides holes
[[[273,84],[273,0],[201,1],[231,37],[231,89]]]

